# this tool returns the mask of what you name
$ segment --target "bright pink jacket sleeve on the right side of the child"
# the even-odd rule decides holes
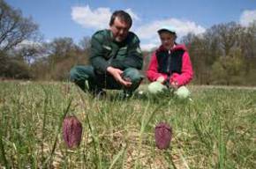
[[[177,82],[178,86],[188,84],[192,80],[193,70],[192,63],[188,52],[184,52],[181,74],[174,73],[170,78],[171,82]]]

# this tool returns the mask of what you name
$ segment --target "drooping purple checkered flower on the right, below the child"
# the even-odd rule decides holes
[[[168,149],[169,143],[171,140],[172,129],[169,127],[169,124],[160,122],[155,126],[154,129],[154,139],[157,148],[159,149]]]

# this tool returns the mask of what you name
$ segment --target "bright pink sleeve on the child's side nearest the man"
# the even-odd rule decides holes
[[[149,81],[151,81],[151,82],[156,81],[156,79],[158,77],[164,77],[164,79],[167,78],[167,75],[159,73],[157,68],[158,68],[158,62],[157,62],[156,55],[154,52],[151,56],[151,60],[149,62],[149,66],[147,69],[147,78]]]

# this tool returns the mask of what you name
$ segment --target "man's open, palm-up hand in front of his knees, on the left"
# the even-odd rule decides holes
[[[110,75],[112,75],[117,80],[117,82],[119,84],[122,84],[125,87],[129,87],[132,85],[132,82],[130,80],[122,78],[122,76],[121,76],[123,73],[122,70],[119,70],[117,68],[113,68],[113,67],[109,66],[107,68],[107,71],[109,72]]]

